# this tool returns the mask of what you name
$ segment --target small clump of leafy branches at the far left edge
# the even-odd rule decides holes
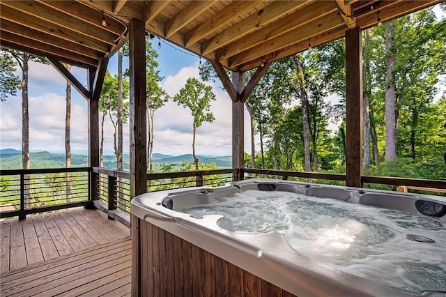
[[[20,78],[14,74],[17,63],[11,59],[8,52],[0,47],[0,102],[8,96],[15,96],[20,89]]]

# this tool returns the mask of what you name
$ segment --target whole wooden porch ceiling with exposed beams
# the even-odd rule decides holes
[[[1,1],[4,47],[89,68],[116,52],[128,22],[234,71],[258,67],[441,1]],[[102,23],[105,23],[105,26]]]

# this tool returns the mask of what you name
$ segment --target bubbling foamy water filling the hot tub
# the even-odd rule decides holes
[[[279,232],[301,254],[410,291],[446,291],[446,228],[435,219],[337,199],[247,190],[183,210],[224,215],[238,233]],[[435,243],[410,241],[407,234]]]

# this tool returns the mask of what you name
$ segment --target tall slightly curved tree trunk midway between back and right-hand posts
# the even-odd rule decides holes
[[[291,61],[293,61],[293,66],[297,72],[298,84],[299,84],[299,97],[300,106],[302,107],[302,122],[303,122],[303,132],[304,132],[304,156],[305,156],[305,171],[311,171],[311,161],[309,154],[309,116],[308,116],[308,96],[307,90],[305,88],[305,79],[302,66],[298,56],[291,56]],[[307,178],[308,182],[311,182],[311,178]]]

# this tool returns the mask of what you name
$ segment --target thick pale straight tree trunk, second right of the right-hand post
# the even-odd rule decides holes
[[[397,114],[395,95],[395,77],[393,68],[395,64],[394,50],[394,22],[389,22],[385,28],[385,160],[397,158]]]

